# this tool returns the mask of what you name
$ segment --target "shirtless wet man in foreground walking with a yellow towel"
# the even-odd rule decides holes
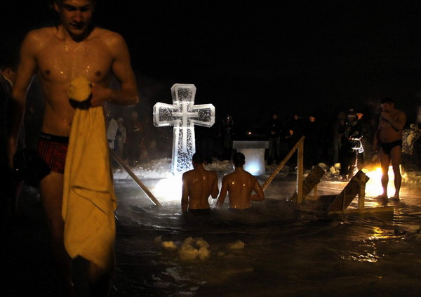
[[[93,84],[92,107],[106,102],[133,105],[138,103],[138,91],[126,42],[121,35],[94,27],[91,23],[95,0],[55,0],[53,8],[60,16],[60,25],[35,29],[22,42],[12,92],[16,107],[8,133],[8,160],[13,168],[26,91],[36,74],[46,100],[39,147],[47,152],[41,157],[51,166],[51,173],[40,183],[41,199],[50,230],[53,259],[62,280],[62,293],[74,296],[72,259],[63,243],[64,222],[61,214],[62,173],[75,111],[69,104],[66,91],[72,79],[86,77]],[[109,88],[113,74],[120,83],[119,91]],[[88,279],[93,296],[107,296],[113,270],[109,268],[105,271],[89,263]]]

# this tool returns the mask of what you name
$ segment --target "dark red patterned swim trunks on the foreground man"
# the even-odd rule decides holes
[[[41,133],[39,136],[38,153],[51,171],[65,173],[65,162],[69,138]]]

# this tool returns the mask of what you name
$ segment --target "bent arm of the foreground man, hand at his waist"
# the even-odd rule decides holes
[[[112,72],[120,84],[120,90],[104,88],[98,84],[92,86],[92,106],[99,106],[105,102],[118,105],[135,105],[139,102],[138,87],[136,86],[135,74],[131,67],[130,54],[126,41],[120,34],[109,32],[107,45],[112,53]]]

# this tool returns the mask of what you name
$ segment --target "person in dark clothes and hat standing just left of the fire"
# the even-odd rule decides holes
[[[361,138],[363,137],[361,124],[356,121],[353,109],[347,114],[347,122],[338,129],[343,133],[340,147],[340,176],[347,181],[354,176],[357,165],[357,154],[362,152]]]

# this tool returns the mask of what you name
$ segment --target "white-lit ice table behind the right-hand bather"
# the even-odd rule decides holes
[[[234,141],[232,147],[246,156],[244,170],[260,176],[265,173],[265,150],[269,141]]]

